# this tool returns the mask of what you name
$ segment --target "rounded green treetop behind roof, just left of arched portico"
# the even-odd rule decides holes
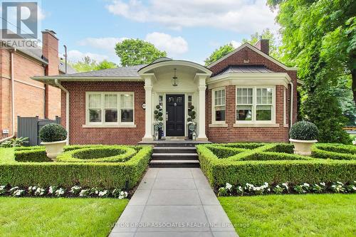
[[[165,51],[159,51],[152,43],[138,38],[117,43],[115,52],[120,57],[122,66],[151,63],[157,58],[167,56]]]

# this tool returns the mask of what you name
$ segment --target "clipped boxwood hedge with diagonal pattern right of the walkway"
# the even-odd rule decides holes
[[[243,145],[244,146],[244,145]],[[350,182],[356,179],[355,160],[318,159],[303,157],[293,152],[290,144],[263,144],[234,154],[241,144],[199,144],[200,166],[211,186],[218,189],[227,183],[290,184],[318,183],[321,181]],[[214,147],[214,148],[212,148]],[[222,148],[224,147],[224,148]],[[231,149],[227,151],[227,149]],[[231,154],[226,157],[222,152]],[[216,152],[216,153],[215,153]],[[221,158],[224,157],[224,158]]]

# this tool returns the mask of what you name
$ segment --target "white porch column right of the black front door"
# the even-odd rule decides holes
[[[205,79],[206,76],[199,76],[199,123],[198,123],[198,137],[197,141],[207,141],[205,135]]]

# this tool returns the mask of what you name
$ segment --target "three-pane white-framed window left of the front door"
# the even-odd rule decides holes
[[[86,101],[88,125],[133,125],[134,93],[88,92]]]

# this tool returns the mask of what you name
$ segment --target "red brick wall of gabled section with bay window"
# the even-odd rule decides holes
[[[295,70],[285,70],[280,65],[261,56],[250,48],[243,48],[209,68],[213,75],[221,73],[229,65],[265,65],[276,73],[288,73],[294,85],[293,122],[297,117],[297,75]],[[228,127],[209,127],[211,124],[211,89],[206,90],[206,136],[211,142],[287,142],[289,128],[284,125],[283,103],[286,102],[286,124],[289,124],[290,85],[284,101],[283,85],[276,86],[276,123],[279,127],[234,127],[236,123],[236,86],[226,90],[226,124]]]

